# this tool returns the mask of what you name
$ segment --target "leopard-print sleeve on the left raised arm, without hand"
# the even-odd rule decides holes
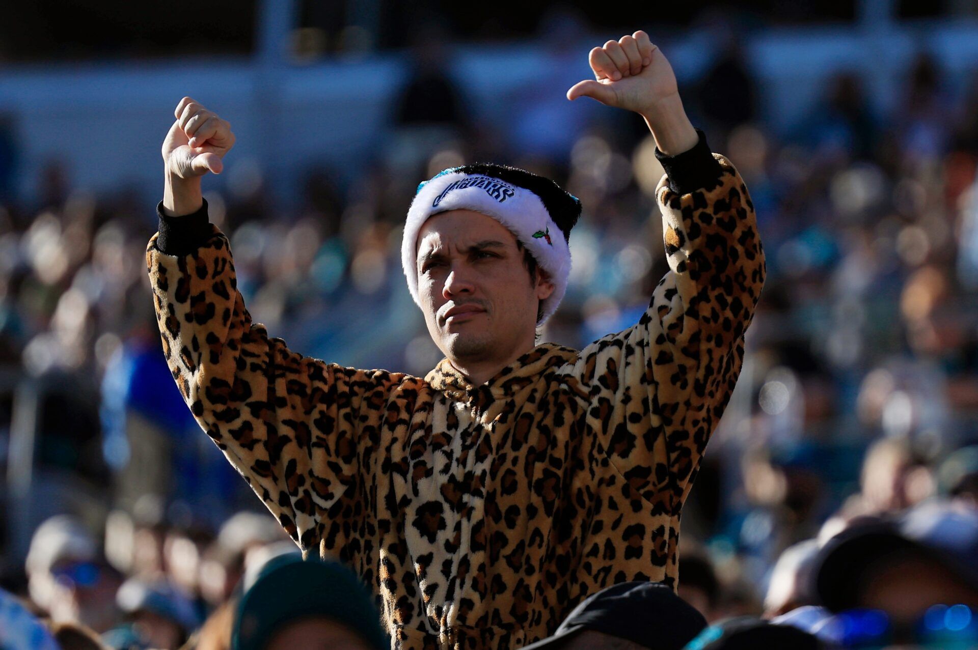
[[[366,516],[360,463],[403,375],[326,364],[270,337],[244,308],[228,239],[203,227],[186,254],[162,252],[158,233],[147,249],[167,364],[200,427],[292,540],[351,548]]]

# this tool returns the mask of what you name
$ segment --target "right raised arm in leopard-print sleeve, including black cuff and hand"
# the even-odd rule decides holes
[[[669,272],[638,325],[570,370],[631,494],[678,512],[739,375],[764,284],[754,206],[733,165],[689,123],[672,66],[644,31],[591,52],[596,80],[567,92],[645,117],[666,170],[656,189]],[[665,489],[663,489],[665,488]]]

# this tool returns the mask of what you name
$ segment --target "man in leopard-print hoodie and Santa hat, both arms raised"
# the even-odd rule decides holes
[[[638,325],[535,345],[580,202],[498,165],[446,170],[405,227],[409,289],[445,359],[424,378],[295,354],[253,324],[200,176],[228,123],[190,98],[163,144],[147,263],[166,358],[200,425],[304,552],[373,585],[394,647],[518,648],[588,594],[675,587],[680,509],[736,381],[764,282],[753,206],[689,123],[643,31],[567,97],[639,112],[668,171],[670,272]]]

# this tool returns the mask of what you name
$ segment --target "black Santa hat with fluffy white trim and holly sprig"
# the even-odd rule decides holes
[[[451,167],[424,181],[411,202],[401,242],[404,276],[419,307],[418,233],[431,215],[460,209],[480,212],[506,226],[547,272],[554,292],[543,301],[538,325],[543,324],[556,312],[567,290],[568,241],[570,229],[581,216],[581,201],[550,179],[508,165]]]

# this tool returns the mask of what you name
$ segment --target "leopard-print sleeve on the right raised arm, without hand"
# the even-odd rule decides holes
[[[663,177],[656,190],[670,270],[645,314],[582,350],[571,370],[618,473],[645,500],[665,498],[674,511],[730,400],[765,278],[743,181],[727,158],[703,155],[709,166],[679,184]]]

